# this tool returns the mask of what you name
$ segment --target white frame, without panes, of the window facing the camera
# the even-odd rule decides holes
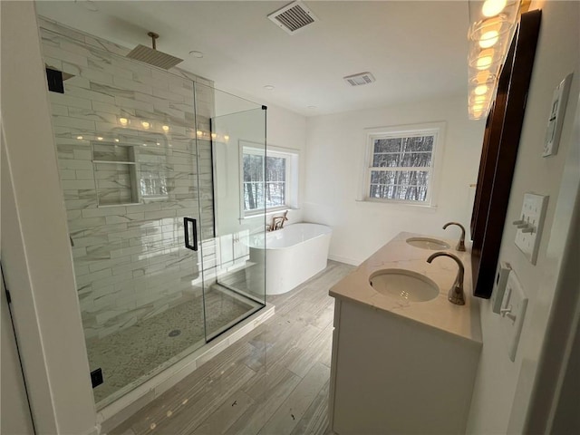
[[[402,205],[420,208],[436,208],[441,178],[441,167],[443,159],[443,148],[445,141],[445,122],[429,122],[421,124],[399,125],[391,127],[381,127],[365,130],[364,160],[360,182],[358,200],[375,202],[381,204]],[[374,154],[374,140],[388,138],[403,138],[410,136],[433,136],[433,150],[431,151],[431,166],[426,168],[410,168],[412,170],[427,170],[430,172],[430,180],[427,188],[427,198],[425,201],[371,198],[371,171],[376,170],[372,166]],[[391,168],[404,170],[403,167]]]

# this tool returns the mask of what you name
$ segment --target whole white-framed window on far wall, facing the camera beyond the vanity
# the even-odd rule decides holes
[[[411,127],[369,133],[364,198],[432,206],[440,130]]]

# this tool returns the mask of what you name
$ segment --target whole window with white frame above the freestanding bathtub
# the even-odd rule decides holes
[[[295,206],[298,154],[242,147],[242,203],[244,215]]]

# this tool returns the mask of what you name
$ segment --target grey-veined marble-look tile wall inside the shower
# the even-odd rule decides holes
[[[183,218],[201,218],[213,237],[211,153],[193,136],[208,130],[212,82],[40,24],[44,62],[72,75],[63,94],[49,92],[53,131],[85,337],[102,338],[198,294],[201,262],[183,247]],[[193,81],[208,85],[195,95],[197,125]],[[211,263],[215,250],[206,252]]]

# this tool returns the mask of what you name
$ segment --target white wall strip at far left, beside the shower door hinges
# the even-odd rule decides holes
[[[34,3],[1,7],[2,262],[34,424],[89,433],[96,416]]]

